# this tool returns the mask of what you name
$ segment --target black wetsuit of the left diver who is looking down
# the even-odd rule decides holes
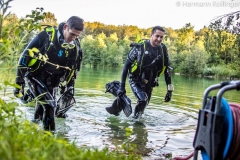
[[[20,59],[17,76],[27,79],[28,87],[34,97],[41,98],[34,114],[34,119],[42,119],[45,129],[55,129],[56,90],[60,80],[67,81],[67,87],[74,87],[76,73],[80,70],[82,51],[80,43],[76,39],[74,48],[63,48],[63,25],[61,23],[55,30],[54,39],[47,31],[39,33],[25,48]],[[51,33],[53,34],[53,32]],[[34,65],[29,66],[33,59],[29,56],[28,49],[39,49],[40,53],[47,55],[47,63],[38,60]],[[44,94],[43,94],[44,93]]]

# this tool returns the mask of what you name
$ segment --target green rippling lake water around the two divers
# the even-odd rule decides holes
[[[105,85],[120,80],[120,69],[82,68],[76,80],[76,105],[68,111],[66,119],[58,118],[57,136],[63,136],[79,147],[96,147],[110,150],[122,149],[141,154],[144,159],[166,159],[167,156],[189,155],[193,151],[193,139],[197,127],[198,111],[202,108],[203,93],[207,87],[222,82],[199,77],[172,76],[174,92],[171,102],[164,102],[166,85],[159,78],[152,99],[145,113],[136,122],[123,112],[113,116],[105,107],[111,106],[115,97],[105,93]],[[136,98],[126,83],[127,96],[134,110]],[[211,93],[216,95],[217,92]],[[12,88],[7,89],[12,96]],[[239,92],[228,91],[224,97],[229,102],[240,103]],[[33,117],[34,108],[19,104],[25,117]],[[130,130],[128,132],[127,130]]]

